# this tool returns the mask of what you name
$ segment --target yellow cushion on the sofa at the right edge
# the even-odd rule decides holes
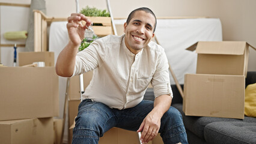
[[[256,117],[256,83],[245,89],[245,115]]]

